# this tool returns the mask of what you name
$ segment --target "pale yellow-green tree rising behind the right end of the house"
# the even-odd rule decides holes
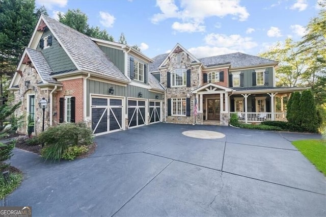
[[[310,73],[307,65],[311,64],[310,59],[307,59],[307,52],[297,52],[297,42],[292,39],[286,39],[284,44],[278,42],[259,56],[279,62],[276,69],[277,86],[295,87],[307,84]]]

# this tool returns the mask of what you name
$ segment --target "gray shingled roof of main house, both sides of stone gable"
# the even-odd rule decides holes
[[[149,69],[151,72],[158,71],[158,66],[164,61],[164,59],[169,55],[169,53],[164,53],[158,55],[152,60],[153,63],[150,64]],[[218,66],[230,64],[232,68],[235,67],[247,67],[247,66],[256,66],[256,65],[265,65],[265,64],[277,64],[274,60],[268,60],[265,58],[247,55],[246,53],[228,53],[226,55],[218,55],[213,57],[205,57],[198,59],[205,67]]]

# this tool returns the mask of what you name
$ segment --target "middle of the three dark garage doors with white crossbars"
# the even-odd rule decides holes
[[[128,128],[146,124],[146,101],[128,99]]]

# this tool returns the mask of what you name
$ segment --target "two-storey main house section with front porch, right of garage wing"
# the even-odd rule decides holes
[[[169,123],[228,125],[239,121],[286,121],[283,97],[307,88],[276,87],[278,62],[236,52],[196,58],[180,44],[153,58],[150,73],[165,87]],[[281,111],[276,111],[276,97]]]

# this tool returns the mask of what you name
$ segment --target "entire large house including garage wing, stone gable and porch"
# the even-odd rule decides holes
[[[100,135],[158,122],[228,125],[232,113],[246,122],[284,120],[276,97],[303,88],[275,87],[277,64],[243,53],[198,59],[180,44],[150,59],[41,15],[10,90],[22,101],[20,133],[34,124],[38,134],[43,121],[45,129],[84,121]]]

